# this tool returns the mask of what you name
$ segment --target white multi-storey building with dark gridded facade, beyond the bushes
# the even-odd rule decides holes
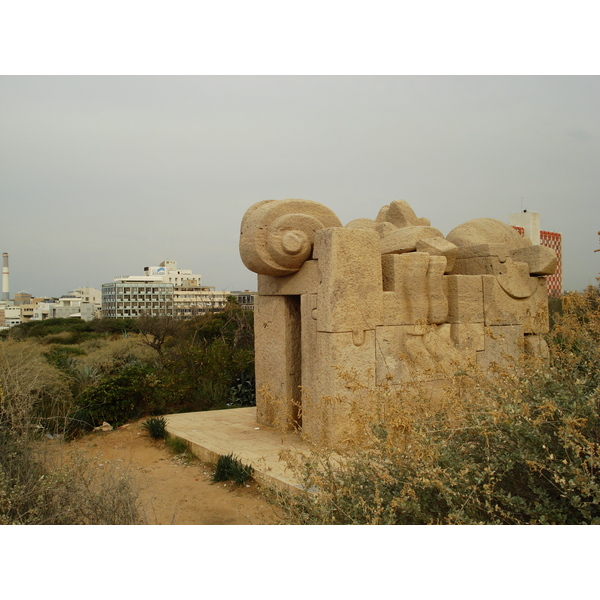
[[[161,277],[131,275],[115,277],[102,285],[102,317],[129,319],[173,314],[174,286]]]

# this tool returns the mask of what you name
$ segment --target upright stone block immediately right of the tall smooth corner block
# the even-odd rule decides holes
[[[426,323],[429,316],[429,254],[410,252],[381,256],[383,324]]]

